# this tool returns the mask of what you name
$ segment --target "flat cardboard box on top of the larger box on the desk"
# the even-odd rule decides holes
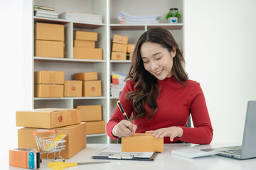
[[[58,128],[81,122],[80,109],[38,108],[16,111],[16,126],[26,128]]]

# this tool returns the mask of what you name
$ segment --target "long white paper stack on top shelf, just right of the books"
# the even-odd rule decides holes
[[[81,23],[102,23],[102,15],[78,13],[73,11],[65,11],[60,13],[59,18],[70,21],[78,21]]]

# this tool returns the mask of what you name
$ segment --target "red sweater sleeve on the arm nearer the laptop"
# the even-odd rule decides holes
[[[190,94],[191,118],[194,128],[181,127],[183,135],[180,140],[194,144],[210,144],[213,128],[206,106],[206,99],[199,83],[193,84]]]

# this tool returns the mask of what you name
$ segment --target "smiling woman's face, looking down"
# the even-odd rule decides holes
[[[156,79],[163,80],[173,75],[171,69],[176,49],[169,52],[158,43],[144,42],[141,47],[141,55],[144,68]]]

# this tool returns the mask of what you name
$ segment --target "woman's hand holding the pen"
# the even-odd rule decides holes
[[[137,130],[137,125],[132,124],[128,120],[121,120],[117,125],[114,125],[112,134],[115,137],[129,137]]]

